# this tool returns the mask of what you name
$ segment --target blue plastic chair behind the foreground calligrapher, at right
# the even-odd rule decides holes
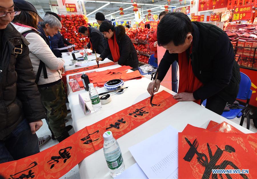
[[[238,99],[243,99],[246,100],[246,105],[238,105],[239,108],[234,108],[234,109],[230,109],[230,111],[224,111],[221,116],[227,118],[227,119],[234,119],[235,117],[240,118],[241,117],[241,121],[240,121],[240,126],[243,126],[244,123],[244,118],[246,116],[247,118],[247,124],[246,124],[246,128],[249,129],[250,128],[250,109],[248,108],[249,106],[249,101],[250,98],[252,96],[252,90],[251,88],[251,80],[250,78],[245,75],[244,73],[241,73],[241,81],[239,84],[239,91],[237,94]],[[202,102],[202,106],[206,106],[206,100],[204,100]]]

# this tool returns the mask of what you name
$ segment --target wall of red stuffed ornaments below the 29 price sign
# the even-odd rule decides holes
[[[61,34],[70,43],[77,45],[75,49],[82,49],[84,45],[87,45],[89,38],[81,36],[79,34],[80,26],[88,26],[88,19],[85,15],[60,15],[62,18]]]

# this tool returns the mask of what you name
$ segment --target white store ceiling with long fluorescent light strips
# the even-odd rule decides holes
[[[51,11],[50,6],[49,6],[50,4],[55,4],[55,5],[57,4],[57,0],[27,0],[27,1],[29,1],[31,4],[33,4],[36,7],[40,16],[44,16],[46,11]],[[99,1],[101,1],[101,0],[99,0]],[[111,2],[111,3],[109,5],[106,5],[109,2]],[[112,2],[117,2],[117,3],[112,3]],[[134,0],[133,0],[133,2],[134,2]],[[185,5],[184,2],[185,1],[183,0],[182,4],[180,5],[179,0],[171,0],[170,5],[180,7],[180,6]],[[133,14],[131,14],[131,13],[133,13],[132,4],[124,4],[124,3],[131,3],[131,0],[123,0],[123,1],[121,1],[121,0],[119,0],[119,1],[118,0],[104,1],[103,0],[101,2],[87,2],[87,0],[84,1],[85,8],[87,11],[87,17],[89,19],[94,19],[96,12],[104,13],[106,15],[107,19],[111,19],[111,15],[109,15],[111,13],[114,13],[116,15],[117,19],[121,19],[121,18],[124,19],[124,18],[133,16]],[[143,10],[146,10],[146,11],[144,11],[144,14],[147,14],[148,9],[151,9],[151,11],[152,11],[151,13],[163,10],[164,9],[163,5],[168,4],[168,2],[162,1],[162,0],[154,0],[154,3],[152,3],[152,0],[138,0],[137,4],[138,4],[138,7],[142,7]],[[140,4],[150,4],[150,5],[140,5]],[[101,8],[103,5],[106,5],[106,6]],[[162,7],[159,7],[157,5],[162,5]],[[186,0],[186,5],[190,5],[190,0]],[[121,17],[121,15],[119,14],[120,7],[123,7],[123,9],[125,9],[123,11],[124,12],[123,17]],[[95,11],[98,8],[101,8],[101,9],[90,14],[91,12]],[[126,9],[126,8],[128,8],[128,9]],[[157,12],[156,14],[158,14],[158,13],[159,12]],[[88,14],[90,14],[90,15],[88,15]],[[128,15],[128,14],[131,14],[131,15]]]

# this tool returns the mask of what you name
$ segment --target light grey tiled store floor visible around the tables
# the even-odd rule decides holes
[[[67,105],[67,108],[69,105]],[[253,109],[252,109],[253,110]],[[251,110],[251,111],[252,111]],[[250,112],[251,113],[251,112]],[[252,114],[252,113],[251,113]],[[66,123],[67,125],[72,125],[72,118],[71,118],[71,113],[68,114],[68,116],[66,117],[69,121]],[[233,122],[235,122],[236,124],[240,123],[241,118],[234,118],[232,119]],[[244,124],[243,126],[246,128],[246,118],[244,120]],[[257,128],[254,126],[252,119],[250,120],[250,130],[252,132],[257,132]],[[69,134],[72,135],[74,134],[75,131],[72,128],[69,131]],[[37,136],[38,137],[43,137],[45,135],[51,135],[50,130],[48,129],[47,123],[45,122],[45,120],[43,121],[43,126],[37,131]],[[45,150],[51,146],[54,146],[55,144],[58,144],[57,140],[52,140],[50,139],[45,145],[40,147],[40,151]],[[67,179],[79,179],[80,178],[80,174],[79,174],[79,166],[76,165],[74,168],[72,168],[67,174],[65,174],[64,176],[61,177],[63,178],[67,178]]]

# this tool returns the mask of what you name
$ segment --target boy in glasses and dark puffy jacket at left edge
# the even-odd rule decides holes
[[[0,3],[0,163],[39,152],[35,132],[45,109],[35,84],[27,40],[10,24],[13,0]]]

